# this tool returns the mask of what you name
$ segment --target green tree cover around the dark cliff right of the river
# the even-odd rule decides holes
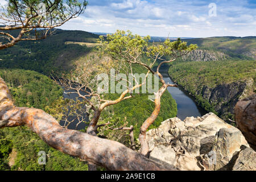
[[[214,105],[201,95],[204,86],[214,88],[216,85],[248,78],[253,78],[255,84],[255,65],[256,60],[177,61],[171,65],[169,75],[195,96],[196,102],[205,110],[216,113]]]

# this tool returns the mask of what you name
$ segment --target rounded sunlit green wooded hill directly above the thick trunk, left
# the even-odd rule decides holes
[[[22,69],[0,69],[18,106],[44,109],[62,96],[63,89],[47,76]]]

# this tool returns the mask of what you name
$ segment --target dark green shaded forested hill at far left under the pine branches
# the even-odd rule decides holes
[[[79,57],[93,48],[65,42],[96,42],[97,35],[83,31],[56,30],[47,39],[19,42],[0,51],[0,68],[33,70],[44,75],[68,72]]]

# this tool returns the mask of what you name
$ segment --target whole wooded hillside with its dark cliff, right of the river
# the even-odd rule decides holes
[[[255,65],[255,60],[177,61],[169,74],[205,110],[233,118],[238,99],[255,92]]]

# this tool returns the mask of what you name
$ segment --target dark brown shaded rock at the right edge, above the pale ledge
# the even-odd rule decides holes
[[[245,98],[235,107],[236,123],[247,142],[256,149],[256,94]]]

